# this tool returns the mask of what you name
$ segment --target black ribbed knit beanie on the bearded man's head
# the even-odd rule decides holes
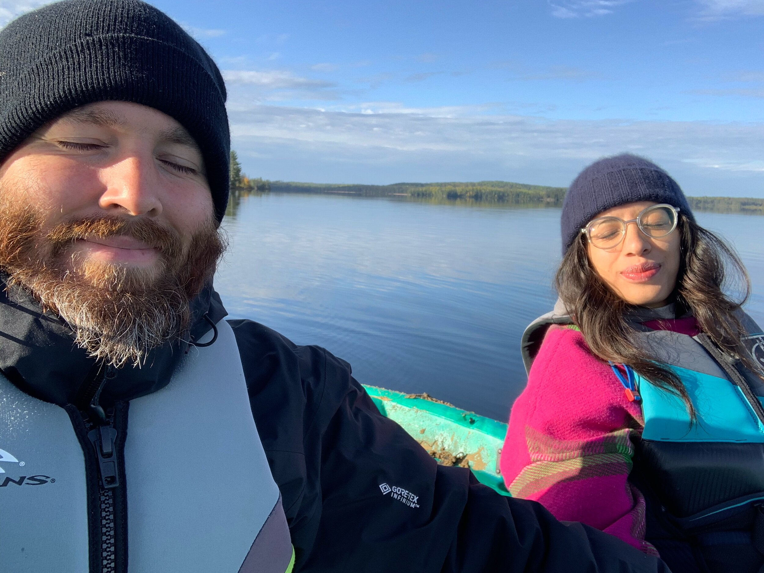
[[[65,0],[0,31],[0,162],[79,105],[147,105],[175,118],[199,144],[220,221],[231,147],[225,97],[205,50],[140,0]]]

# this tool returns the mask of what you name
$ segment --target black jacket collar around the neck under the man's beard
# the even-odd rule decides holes
[[[228,312],[212,283],[191,303],[190,340],[199,340]],[[209,318],[208,320],[205,318]],[[189,343],[180,339],[154,348],[143,367],[121,367],[102,392],[102,404],[131,400],[160,390]],[[101,364],[74,343],[69,325],[52,312],[43,312],[28,293],[9,288],[0,275],[0,371],[20,390],[59,406],[74,403],[98,374]],[[78,405],[81,406],[81,405]]]

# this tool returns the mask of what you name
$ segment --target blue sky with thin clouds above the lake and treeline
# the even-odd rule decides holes
[[[251,176],[565,186],[632,151],[764,197],[764,0],[154,5],[223,70]]]

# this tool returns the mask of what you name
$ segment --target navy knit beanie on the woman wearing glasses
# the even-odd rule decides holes
[[[652,161],[632,154],[604,157],[575,178],[562,204],[562,254],[601,212],[638,201],[668,203],[694,221],[685,193]]]

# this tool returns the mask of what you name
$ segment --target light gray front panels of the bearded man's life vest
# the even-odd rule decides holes
[[[170,383],[131,400],[124,443],[130,573],[284,573],[294,562],[277,484],[225,320]],[[83,447],[66,410],[0,375],[0,571],[83,573]],[[108,533],[108,532],[107,532]]]

